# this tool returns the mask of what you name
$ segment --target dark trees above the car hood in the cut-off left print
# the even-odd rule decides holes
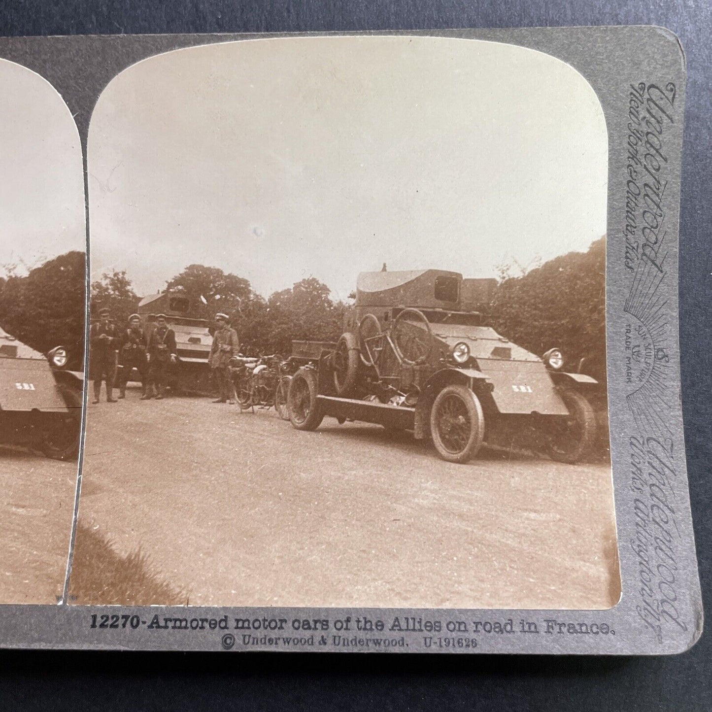
[[[83,361],[85,256],[72,251],[33,268],[10,273],[0,285],[0,326],[33,349],[46,353],[63,345],[73,367]]]

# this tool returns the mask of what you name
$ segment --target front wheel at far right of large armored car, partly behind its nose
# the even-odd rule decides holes
[[[592,405],[577,391],[560,391],[569,410],[566,417],[552,418],[547,424],[548,454],[557,462],[575,464],[591,450],[596,437],[596,414]]]

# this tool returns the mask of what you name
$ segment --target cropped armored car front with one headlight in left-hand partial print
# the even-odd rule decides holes
[[[45,357],[0,328],[0,444],[58,460],[79,451],[83,374],[66,370],[65,347]]]

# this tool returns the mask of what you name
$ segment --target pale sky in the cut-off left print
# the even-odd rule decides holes
[[[84,251],[79,133],[46,80],[0,59],[0,276]]]

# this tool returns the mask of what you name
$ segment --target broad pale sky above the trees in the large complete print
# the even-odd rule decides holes
[[[190,263],[263,295],[359,271],[493,276],[605,233],[600,103],[525,48],[288,38],[150,58],[101,95],[89,135],[92,276],[137,293]]]

